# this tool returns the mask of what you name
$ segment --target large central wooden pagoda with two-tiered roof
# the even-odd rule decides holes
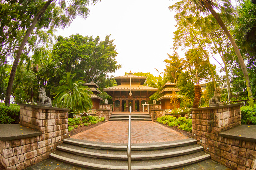
[[[147,77],[135,76],[131,72],[115,77],[117,86],[103,89],[113,98],[114,112],[142,112],[145,102],[158,91],[157,88],[143,86]]]

